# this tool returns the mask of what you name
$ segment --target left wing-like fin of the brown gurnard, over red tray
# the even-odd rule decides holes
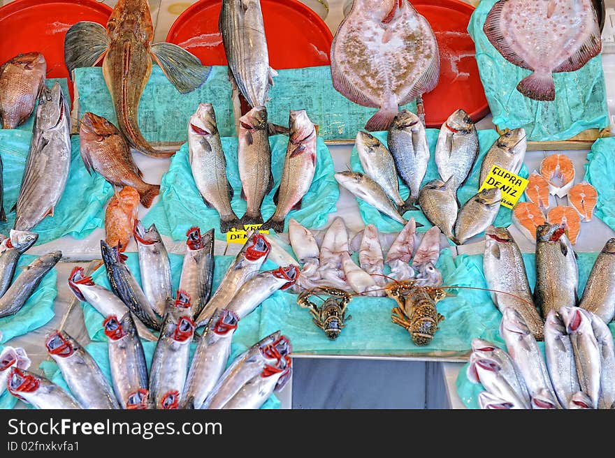
[[[106,29],[96,22],[77,22],[66,32],[64,38],[64,63],[68,77],[73,79],[73,70],[91,67],[107,52],[109,40]]]

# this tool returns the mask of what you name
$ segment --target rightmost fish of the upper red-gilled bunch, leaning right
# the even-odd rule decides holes
[[[260,272],[243,283],[226,309],[242,320],[275,291],[293,286],[298,276],[299,268],[296,265]]]

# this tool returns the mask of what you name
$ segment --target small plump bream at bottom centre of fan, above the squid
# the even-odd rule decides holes
[[[451,177],[446,183],[434,179],[423,186],[419,193],[421,211],[449,239],[454,238],[453,226],[459,209],[455,191],[454,177]]]

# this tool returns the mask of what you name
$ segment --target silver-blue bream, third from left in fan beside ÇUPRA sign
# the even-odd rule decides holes
[[[408,200],[414,202],[419,198],[431,156],[425,126],[416,114],[402,110],[389,126],[388,143],[397,172],[410,189]]]

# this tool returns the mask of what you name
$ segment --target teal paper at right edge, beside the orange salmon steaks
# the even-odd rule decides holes
[[[615,230],[615,138],[598,138],[587,154],[585,179],[598,191],[598,216]]]

